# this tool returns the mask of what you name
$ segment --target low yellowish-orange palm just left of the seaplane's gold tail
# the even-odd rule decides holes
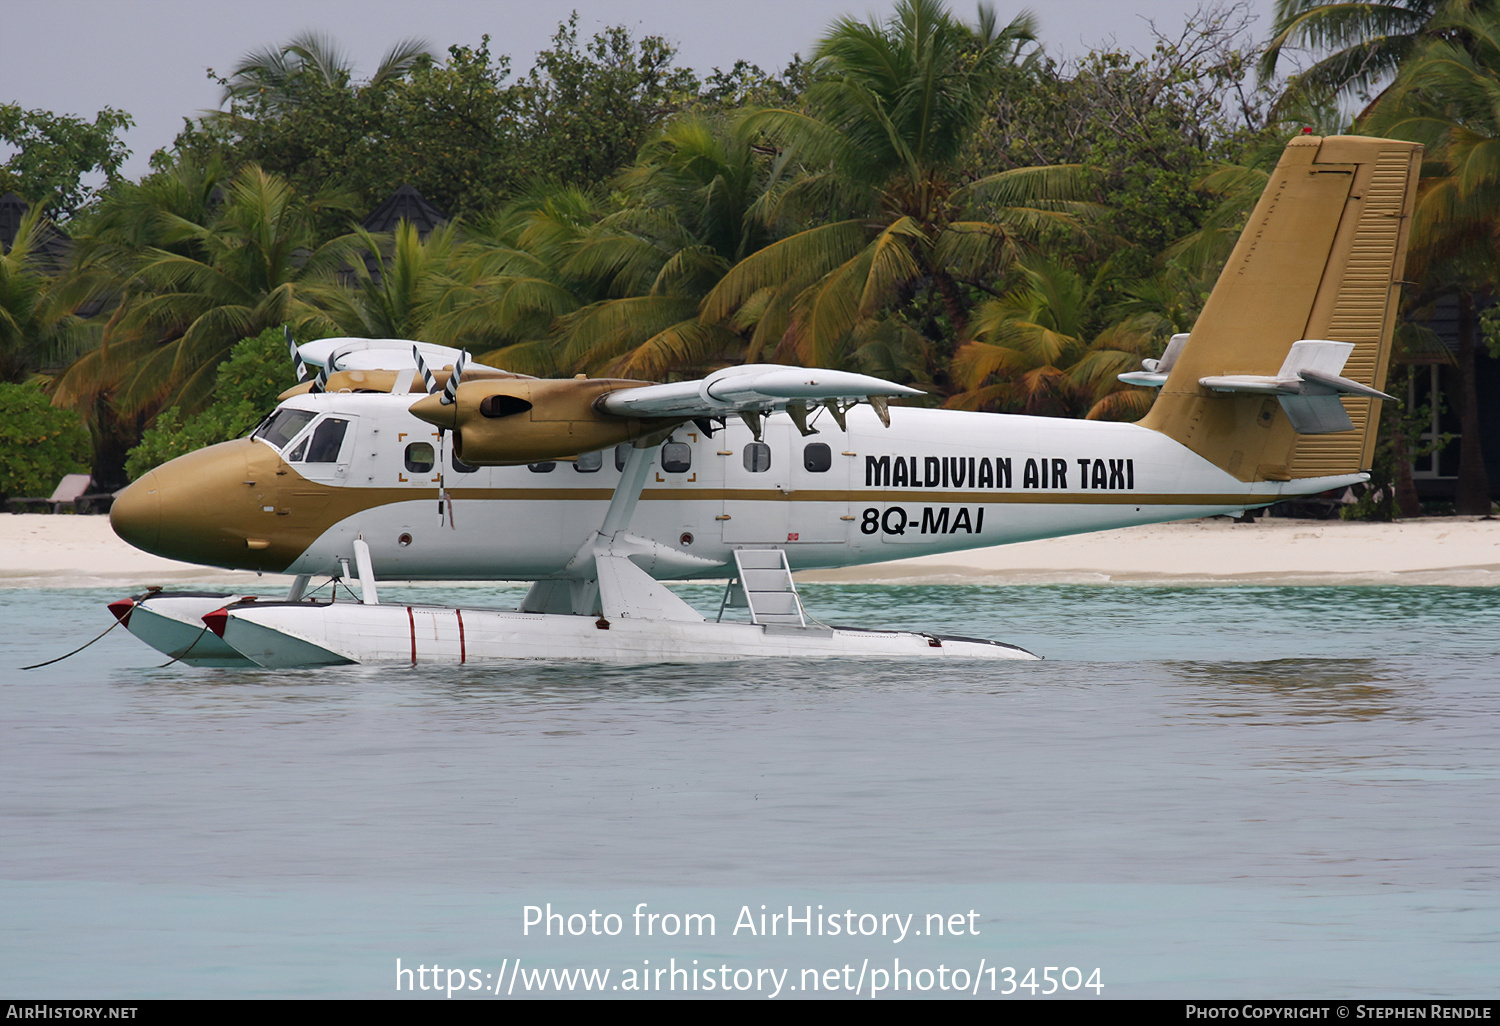
[[[1132,316],[1089,340],[1089,314],[1108,266],[1092,282],[1044,258],[1026,261],[1023,270],[1022,286],[978,309],[975,340],[954,357],[954,378],[964,390],[946,405],[1090,420],[1143,416],[1155,394],[1122,386],[1116,375],[1140,366],[1156,318]]]

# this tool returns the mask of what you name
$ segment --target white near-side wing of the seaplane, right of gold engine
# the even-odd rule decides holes
[[[866,374],[756,363],[724,368],[698,381],[622,388],[603,396],[598,408],[615,417],[722,417],[786,410],[792,404],[920,394],[920,388]]]

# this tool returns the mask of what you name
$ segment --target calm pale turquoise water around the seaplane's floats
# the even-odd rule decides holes
[[[608,993],[627,970],[768,969],[734,992],[762,999],[777,970],[798,996],[844,966],[868,998],[897,958],[927,994],[939,966],[981,996],[984,966],[1098,969],[1106,998],[1500,980],[1491,590],[804,588],[825,622],[1047,657],[1026,664],[270,674],[158,669],[114,632],[14,669],[117,597],[0,591],[9,994],[384,998],[398,958],[486,992],[516,958],[610,969]],[[548,903],[621,932],[524,933]],[[636,936],[640,903],[716,932]],[[912,932],[734,930],[762,904]]]

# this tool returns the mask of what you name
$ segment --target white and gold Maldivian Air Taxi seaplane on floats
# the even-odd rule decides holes
[[[290,592],[110,608],[200,666],[1036,658],[825,626],[792,574],[1366,482],[1419,165],[1410,142],[1293,138],[1192,330],[1120,375],[1160,388],[1137,423],[902,406],[921,393],[844,370],[540,380],[426,342],[292,345],[315,380],[111,512],[136,548]],[[717,616],[663,584],[702,579],[728,580]],[[392,580],[530,590],[516,609],[381,602]]]

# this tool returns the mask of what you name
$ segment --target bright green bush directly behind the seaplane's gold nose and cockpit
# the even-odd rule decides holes
[[[240,438],[276,406],[276,398],[297,384],[282,328],[243,339],[219,364],[214,400],[195,414],[178,406],[162,411],[130,450],[124,472],[134,482],[153,466],[204,446]]]

